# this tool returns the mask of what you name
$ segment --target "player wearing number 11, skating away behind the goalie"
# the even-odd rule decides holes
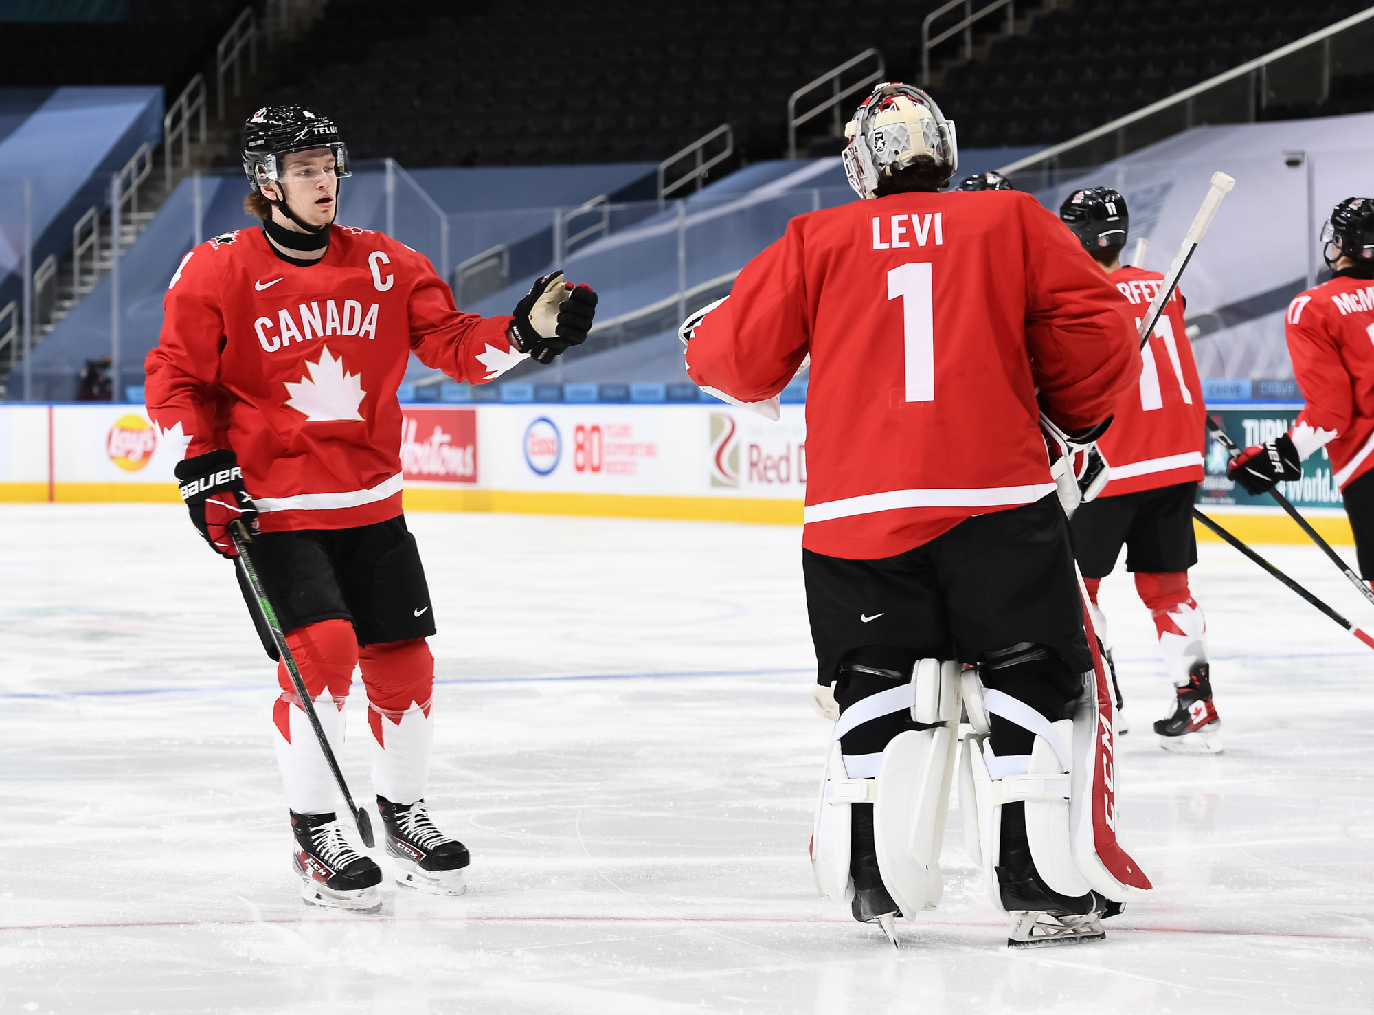
[[[1139,327],[1164,275],[1121,265],[1129,232],[1125,199],[1110,187],[1088,187],[1065,199],[1059,217],[1112,276]],[[1117,404],[1112,429],[1098,441],[1109,466],[1106,485],[1073,513],[1073,539],[1109,666],[1112,641],[1098,586],[1127,547],[1125,568],[1135,574],[1135,589],[1154,618],[1175,688],[1169,714],[1154,723],[1160,744],[1183,754],[1219,754],[1221,721],[1212,704],[1206,620],[1189,591],[1189,568],[1198,560],[1193,503],[1202,480],[1206,404],[1183,307],[1183,294],[1175,290],[1140,351],[1139,384]],[[1113,668],[1113,682],[1114,677]]]

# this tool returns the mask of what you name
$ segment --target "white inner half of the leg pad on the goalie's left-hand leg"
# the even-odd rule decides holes
[[[959,747],[959,663],[922,659],[912,675],[911,717],[932,729],[899,733],[882,752],[872,811],[878,871],[901,915],[934,909],[944,893],[944,843]]]

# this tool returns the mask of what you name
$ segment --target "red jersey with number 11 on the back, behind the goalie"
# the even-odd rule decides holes
[[[1121,268],[1107,276],[1131,304],[1139,333],[1164,275]],[[1183,325],[1184,300],[1175,289],[1140,349],[1140,384],[1117,403],[1112,426],[1098,441],[1110,470],[1101,496],[1202,481],[1206,452],[1206,403]]]

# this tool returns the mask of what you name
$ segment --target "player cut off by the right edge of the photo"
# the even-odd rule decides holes
[[[1355,535],[1360,578],[1374,585],[1374,198],[1347,198],[1322,228],[1331,278],[1289,304],[1289,356],[1307,404],[1287,433],[1245,448],[1228,476],[1252,494],[1303,477],[1326,448]]]

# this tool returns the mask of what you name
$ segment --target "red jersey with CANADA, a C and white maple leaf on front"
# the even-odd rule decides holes
[[[342,226],[309,267],[260,228],[216,237],[181,260],[162,305],[148,414],[187,457],[232,448],[265,531],[401,513],[396,391],[411,352],[473,384],[525,359],[508,316],[460,314],[423,254]]]

